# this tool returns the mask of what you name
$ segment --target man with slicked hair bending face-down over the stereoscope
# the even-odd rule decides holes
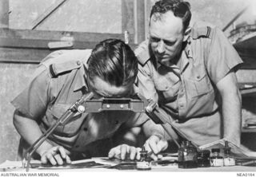
[[[59,50],[38,65],[30,84],[12,101],[14,126],[28,148],[83,95],[129,97],[134,94],[138,60],[123,41],[108,39],[90,49]],[[53,165],[106,156],[118,128],[150,126],[134,112],[78,113],[37,149],[34,159]],[[154,126],[153,126],[154,127]],[[153,128],[152,127],[152,128]],[[152,135],[158,134],[152,129]],[[134,148],[135,149],[135,148]],[[22,151],[20,151],[22,152]]]

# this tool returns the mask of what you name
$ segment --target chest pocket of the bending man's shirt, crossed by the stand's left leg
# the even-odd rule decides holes
[[[64,113],[71,107],[71,104],[54,104],[52,108],[47,111],[47,119],[54,124],[59,120]],[[69,120],[59,124],[54,133],[58,136],[74,136],[78,133],[82,125],[82,113],[76,113]]]

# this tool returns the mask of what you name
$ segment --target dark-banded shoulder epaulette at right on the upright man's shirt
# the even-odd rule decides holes
[[[192,28],[191,30],[191,37],[193,39],[198,39],[200,37],[212,38],[212,36],[213,36],[213,29],[210,26]]]

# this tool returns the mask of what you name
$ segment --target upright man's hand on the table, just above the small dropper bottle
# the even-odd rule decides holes
[[[146,151],[151,154],[150,158],[158,160],[162,157],[162,155],[158,155],[158,153],[168,148],[168,142],[158,136],[150,136],[150,138],[146,140],[144,147]]]

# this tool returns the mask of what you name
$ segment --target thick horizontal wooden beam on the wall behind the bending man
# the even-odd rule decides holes
[[[122,34],[0,29],[0,62],[38,63],[56,50],[49,49],[49,42],[62,41],[67,36],[73,39],[70,49],[93,49],[106,38],[123,40]],[[135,45],[130,44],[130,47],[134,49]]]

